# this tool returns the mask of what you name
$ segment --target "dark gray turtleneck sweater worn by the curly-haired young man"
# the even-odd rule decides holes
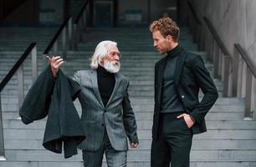
[[[161,113],[177,113],[185,111],[177,91],[174,88],[174,71],[177,64],[177,58],[181,53],[182,47],[177,45],[171,51],[167,52],[166,68],[162,80],[161,94]]]

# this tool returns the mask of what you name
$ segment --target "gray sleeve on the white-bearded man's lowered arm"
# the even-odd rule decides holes
[[[128,94],[129,81],[127,80],[126,88],[125,88],[125,97],[122,101],[123,106],[123,119],[125,124],[125,132],[131,143],[139,143],[139,139],[137,136],[137,125],[136,118],[131,108],[131,102]]]

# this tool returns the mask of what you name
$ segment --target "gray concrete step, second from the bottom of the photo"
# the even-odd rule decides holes
[[[8,160],[29,161],[78,161],[81,152],[69,159],[64,159],[63,154],[54,154],[48,150],[6,150]],[[192,150],[192,161],[251,161],[256,159],[256,150]],[[128,151],[128,161],[149,161],[150,152],[147,150]]]

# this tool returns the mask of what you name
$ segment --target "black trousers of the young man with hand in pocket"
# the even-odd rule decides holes
[[[152,140],[151,167],[189,167],[192,132],[185,120],[177,119],[182,113],[161,114],[159,136]]]

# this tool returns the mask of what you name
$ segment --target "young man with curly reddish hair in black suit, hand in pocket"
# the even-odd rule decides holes
[[[157,51],[167,53],[155,66],[151,167],[188,167],[192,135],[207,130],[204,117],[218,91],[201,56],[178,44],[180,30],[171,18],[151,23],[150,31]]]

